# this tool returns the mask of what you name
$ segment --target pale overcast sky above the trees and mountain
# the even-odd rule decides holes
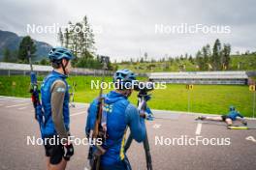
[[[95,28],[98,54],[121,60],[195,55],[215,39],[229,42],[232,52],[256,50],[256,1],[254,0],[1,0],[0,29],[19,36],[28,35],[27,24],[65,26],[87,15]],[[170,32],[182,24],[219,26],[228,32],[181,34]],[[165,32],[156,31],[162,25]],[[159,27],[158,27],[159,28]],[[38,41],[57,45],[56,34],[29,35]]]

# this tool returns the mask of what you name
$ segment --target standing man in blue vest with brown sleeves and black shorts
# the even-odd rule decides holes
[[[44,126],[41,128],[45,143],[48,170],[64,170],[74,154],[68,142],[70,130],[69,90],[66,81],[71,71],[73,54],[63,47],[52,48],[48,54],[53,71],[44,79],[41,94],[44,108]],[[50,143],[49,140],[55,141]],[[58,142],[61,140],[61,142]]]

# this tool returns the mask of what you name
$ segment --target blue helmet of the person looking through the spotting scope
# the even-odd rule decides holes
[[[135,73],[127,69],[116,71],[112,77],[113,82],[115,83],[118,82],[120,85],[127,88],[130,88],[132,86],[133,81],[135,80],[136,80]]]

